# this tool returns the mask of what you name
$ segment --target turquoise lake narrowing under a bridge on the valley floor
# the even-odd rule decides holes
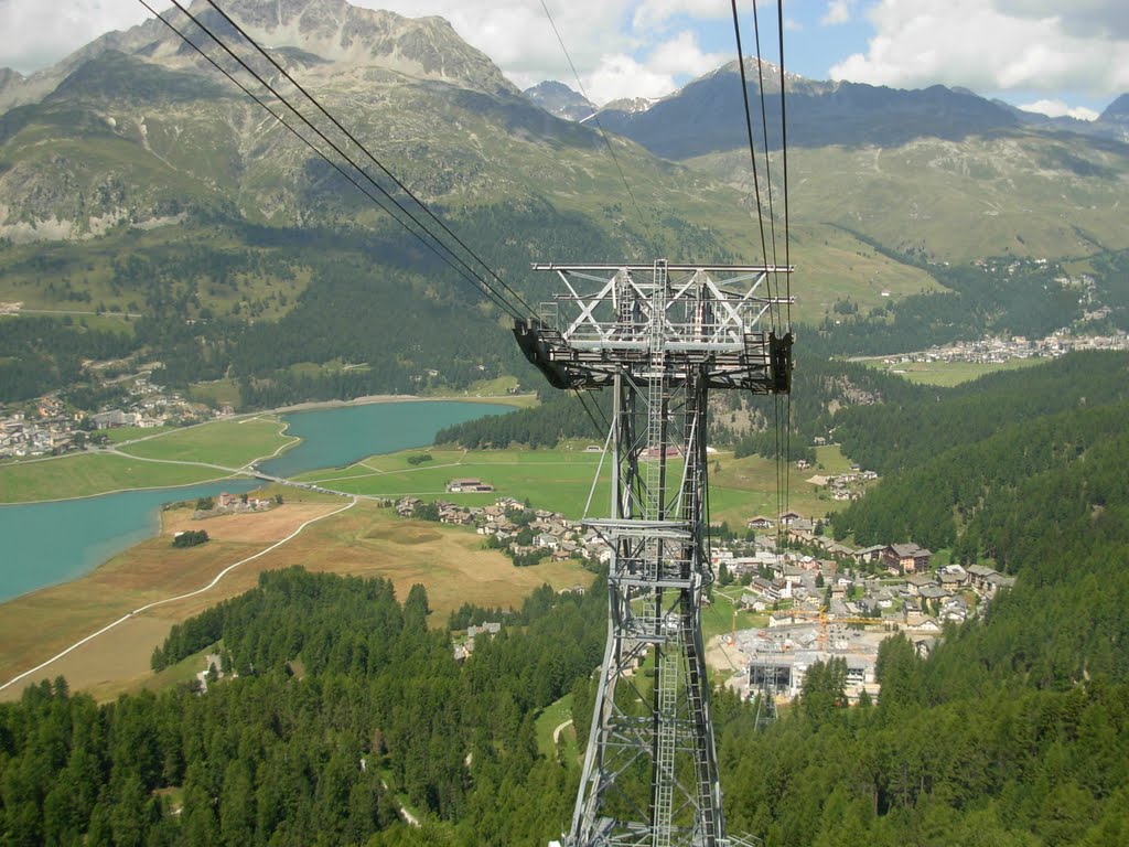
[[[303,443],[262,463],[290,477],[336,468],[377,453],[431,444],[443,427],[513,407],[484,403],[370,403],[283,416],[287,433]],[[230,479],[181,488],[125,491],[73,500],[0,506],[0,602],[81,576],[116,553],[156,534],[160,506],[242,494],[253,480]]]

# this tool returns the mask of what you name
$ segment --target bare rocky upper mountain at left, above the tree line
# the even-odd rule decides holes
[[[514,147],[499,130],[516,142],[563,132],[566,143],[576,143],[588,132],[546,124],[441,18],[404,18],[343,0],[237,0],[226,8],[426,197],[511,192],[522,181],[515,180]],[[196,2],[193,14],[228,43],[240,42],[207,3]],[[195,30],[175,10],[169,19]],[[261,56],[246,55],[278,78]],[[289,84],[280,90],[296,96]],[[362,206],[329,166],[155,19],[110,33],[26,80],[9,73],[0,79],[0,108],[35,107],[0,139],[10,163],[0,173],[0,237],[82,237],[98,230],[97,220],[145,221],[176,211],[169,207],[226,199],[253,218],[286,224],[327,206],[349,216]],[[47,155],[38,146],[44,130],[75,149]],[[106,145],[117,151],[100,155]],[[519,146],[526,156],[535,152]],[[124,178],[122,160],[132,160],[124,168],[132,178]],[[541,164],[540,171],[548,180],[568,166]],[[561,176],[557,181],[567,183]],[[110,190],[122,182],[124,193]]]

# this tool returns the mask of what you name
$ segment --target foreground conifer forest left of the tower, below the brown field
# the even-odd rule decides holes
[[[203,696],[99,707],[58,680],[0,706],[0,842],[365,844],[396,820],[390,788],[466,844],[543,841],[570,772],[533,718],[598,663],[602,597],[545,586],[460,664],[421,586],[401,605],[383,580],[265,574],[155,656],[221,638],[238,675]]]

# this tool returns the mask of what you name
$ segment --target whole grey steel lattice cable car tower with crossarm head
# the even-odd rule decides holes
[[[567,294],[517,322],[558,388],[610,387],[607,646],[568,847],[726,847],[702,594],[710,388],[784,394],[791,335],[759,330],[786,300],[771,267],[534,265]],[[597,472],[597,481],[599,473]],[[595,491],[595,483],[594,483]],[[590,503],[590,498],[589,498]]]

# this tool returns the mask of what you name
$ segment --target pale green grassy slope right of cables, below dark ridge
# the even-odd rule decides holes
[[[743,156],[712,154],[688,164],[732,178],[747,169]],[[1070,157],[1093,173],[1076,173]],[[789,151],[788,166],[797,226],[834,222],[894,250],[925,246],[963,262],[1129,246],[1118,210],[1129,181],[1123,148],[1017,133],[960,143],[918,139],[893,149],[800,148]]]

